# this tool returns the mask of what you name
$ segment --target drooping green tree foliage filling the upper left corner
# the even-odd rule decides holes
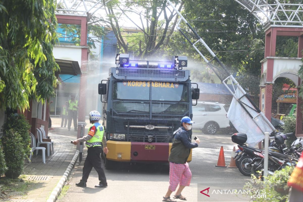
[[[59,70],[54,0],[0,1],[0,109],[54,95]]]

